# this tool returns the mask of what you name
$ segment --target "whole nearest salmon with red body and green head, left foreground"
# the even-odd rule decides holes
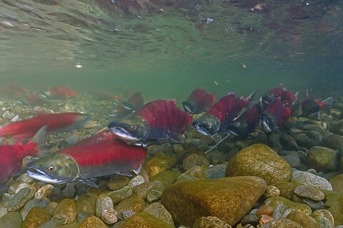
[[[130,177],[131,171],[138,174],[145,157],[146,148],[114,139],[100,144],[68,147],[30,162],[26,167],[30,177],[43,182],[81,181],[98,187],[88,179],[112,174]]]

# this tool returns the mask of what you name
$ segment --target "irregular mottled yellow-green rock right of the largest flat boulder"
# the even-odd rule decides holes
[[[307,204],[292,202],[284,197],[272,197],[264,201],[264,204],[273,207],[274,219],[285,219],[290,212],[302,212],[303,214],[312,214],[312,209]]]

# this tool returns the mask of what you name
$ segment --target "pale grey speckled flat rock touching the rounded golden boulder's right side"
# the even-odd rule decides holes
[[[293,170],[292,182],[297,182],[302,185],[312,185],[319,190],[332,191],[332,186],[328,180],[324,179],[323,177],[314,175],[310,172]]]

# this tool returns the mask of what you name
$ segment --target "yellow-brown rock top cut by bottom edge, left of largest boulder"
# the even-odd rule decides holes
[[[173,226],[163,222],[161,219],[151,214],[140,212],[127,219],[120,228],[173,228]]]

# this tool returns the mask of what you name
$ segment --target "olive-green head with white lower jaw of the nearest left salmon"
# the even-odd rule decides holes
[[[73,182],[79,177],[79,165],[72,157],[61,152],[41,157],[26,167],[29,168],[29,177],[52,184]]]

